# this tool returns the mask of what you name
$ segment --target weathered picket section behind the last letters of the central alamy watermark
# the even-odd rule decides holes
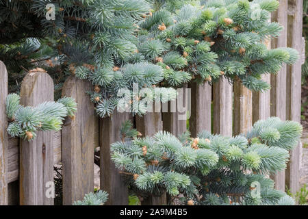
[[[187,85],[183,88],[177,89],[178,97],[175,101],[163,103],[163,129],[175,136],[179,136],[185,132],[187,114],[190,113],[190,92],[188,92]],[[165,110],[164,105],[168,105],[168,109]],[[167,111],[167,112],[165,112]]]

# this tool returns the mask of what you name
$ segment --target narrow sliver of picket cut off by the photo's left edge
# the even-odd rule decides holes
[[[8,205],[8,120],[5,101],[8,96],[8,72],[0,61],[0,205]]]

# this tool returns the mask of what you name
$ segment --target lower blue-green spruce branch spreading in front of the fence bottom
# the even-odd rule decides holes
[[[298,123],[272,117],[232,138],[207,131],[198,138],[184,133],[179,139],[166,131],[139,138],[131,127],[123,125],[123,141],[111,145],[111,156],[137,196],[166,191],[195,205],[294,205],[266,175],[286,168],[302,133]]]

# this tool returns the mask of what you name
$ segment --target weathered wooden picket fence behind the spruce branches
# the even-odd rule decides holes
[[[265,42],[268,48],[293,47],[303,53],[302,10],[303,0],[280,1],[272,21],[281,23],[285,29],[279,38]],[[192,136],[203,129],[225,136],[245,133],[255,121],[269,116],[299,122],[301,64],[303,59],[294,66],[283,66],[278,75],[266,75],[264,80],[271,83],[272,89],[263,93],[251,92],[239,82],[231,85],[224,78],[213,86],[188,84],[190,90],[185,90],[184,96],[191,96],[189,129]],[[10,138],[5,116],[8,75],[0,62],[0,205],[53,205],[53,198],[47,198],[46,183],[53,181],[53,165],[60,162],[64,205],[81,200],[84,194],[94,190],[96,147],[101,149],[101,190],[110,194],[107,205],[126,205],[127,187],[110,160],[110,144],[120,140],[120,125],[125,120],[133,120],[143,136],[161,129],[175,135],[186,130],[186,120],[178,119],[185,113],[179,111],[153,112],[142,117],[116,112],[111,118],[99,119],[85,93],[90,87],[88,81],[75,77],[66,80],[62,94],[75,98],[78,110],[75,120],[66,119],[62,131],[40,132],[32,142]],[[47,73],[29,73],[21,86],[21,103],[35,106],[43,101],[53,101],[53,81]],[[178,101],[188,107],[185,99]],[[285,190],[286,185],[292,192],[298,190],[299,157],[298,146],[290,154],[287,170],[271,176],[277,189]],[[147,205],[165,203],[166,195],[142,201]]]

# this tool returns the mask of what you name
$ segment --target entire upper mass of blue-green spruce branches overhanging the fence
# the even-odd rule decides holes
[[[119,103],[121,109],[145,114],[147,107],[139,102],[159,99],[155,94],[120,98],[119,90],[132,93],[133,83],[153,90],[227,77],[263,91],[270,85],[262,75],[298,59],[294,49],[264,45],[283,28],[268,21],[277,0],[51,2],[55,20],[45,17],[47,1],[0,1],[5,44],[0,55],[16,72],[21,71],[16,66],[31,66],[31,60],[56,58],[65,69],[63,80],[71,73],[91,81],[94,89],[88,94],[101,117],[111,116]],[[168,91],[175,96],[175,90]]]

